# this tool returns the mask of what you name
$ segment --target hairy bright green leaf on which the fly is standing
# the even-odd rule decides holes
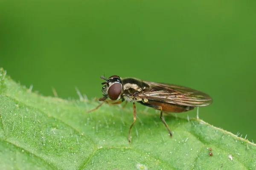
[[[200,119],[45,97],[0,69],[1,169],[255,170],[256,144]],[[209,156],[209,148],[213,156]]]

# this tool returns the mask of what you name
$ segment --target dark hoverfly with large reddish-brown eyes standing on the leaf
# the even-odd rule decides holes
[[[131,128],[136,121],[137,111],[135,102],[160,110],[160,119],[166,126],[171,137],[172,133],[166,121],[163,119],[163,112],[186,112],[195,107],[207,106],[212,103],[212,98],[209,95],[179,85],[149,82],[130,77],[120,78],[116,75],[108,79],[101,76],[101,79],[104,79],[105,82],[102,82],[102,85],[104,85],[102,87],[103,97],[99,101],[105,101],[111,105],[120,104],[124,101],[126,104],[127,102],[133,103],[134,121],[129,129],[129,143],[131,143]],[[106,100],[108,98],[110,99],[109,101]],[[95,111],[103,103],[90,111]]]

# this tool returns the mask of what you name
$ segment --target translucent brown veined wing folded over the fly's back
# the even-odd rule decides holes
[[[183,106],[207,106],[212,103],[212,98],[192,88],[165,83],[143,81],[149,88],[142,91],[138,96],[142,99],[166,102]]]

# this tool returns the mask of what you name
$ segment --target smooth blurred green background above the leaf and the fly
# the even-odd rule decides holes
[[[201,119],[256,141],[255,5],[2,0],[0,67],[40,94],[53,96],[54,87],[61,98],[78,99],[76,86],[89,99],[101,97],[103,74],[195,88],[214,100],[200,108]]]

